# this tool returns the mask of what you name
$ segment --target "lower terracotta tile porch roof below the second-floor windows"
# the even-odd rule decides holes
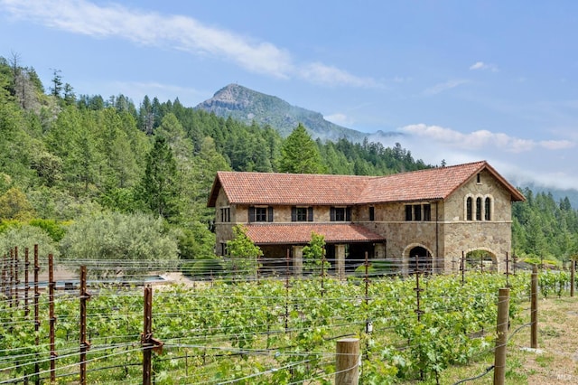
[[[325,237],[325,242],[380,242],[385,238],[361,225],[349,223],[284,223],[249,224],[247,236],[256,245],[264,244],[305,244],[315,231]]]

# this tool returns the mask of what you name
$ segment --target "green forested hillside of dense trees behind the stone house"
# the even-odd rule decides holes
[[[145,97],[136,106],[123,95],[76,95],[58,70],[45,89],[18,59],[0,58],[4,242],[40,237],[46,249],[70,258],[104,256],[128,249],[123,237],[138,222],[165,242],[135,258],[153,248],[164,248],[166,258],[210,258],[213,212],[206,202],[219,170],[378,175],[430,166],[399,145],[314,141],[302,126],[282,137],[275,127],[217,117],[178,99]],[[295,157],[292,148],[311,156]],[[578,216],[569,202],[524,192],[528,202],[514,211],[517,253],[573,254]],[[94,234],[117,227],[110,235],[117,243],[75,249],[73,240],[90,226]]]

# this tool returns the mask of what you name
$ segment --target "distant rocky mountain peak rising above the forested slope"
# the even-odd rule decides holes
[[[253,121],[259,126],[269,125],[281,136],[288,136],[299,123],[302,123],[313,138],[337,141],[346,138],[351,142],[399,136],[399,133],[375,134],[363,133],[347,127],[341,127],[325,120],[321,113],[292,106],[283,99],[266,95],[238,84],[229,84],[219,89],[211,99],[200,103],[198,109],[212,112],[218,117],[231,117],[246,124]]]

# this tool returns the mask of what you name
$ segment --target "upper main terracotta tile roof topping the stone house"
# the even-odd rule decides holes
[[[512,201],[524,201],[516,188],[486,161],[480,161],[386,176],[219,172],[208,205],[215,206],[220,187],[233,204],[350,205],[444,200],[484,169],[504,185]]]

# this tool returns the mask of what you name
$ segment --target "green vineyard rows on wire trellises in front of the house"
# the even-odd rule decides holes
[[[138,384],[147,356],[156,384],[333,383],[344,337],[359,338],[360,383],[440,383],[448,368],[493,354],[499,288],[510,288],[510,321],[530,294],[527,272],[149,286],[150,266],[132,267],[122,284],[80,279],[60,290],[53,278],[43,287],[29,278],[51,269],[46,259],[3,259],[0,383],[79,383],[83,365],[88,383]],[[89,276],[98,268],[110,267]],[[568,296],[569,272],[539,280],[542,296]]]

